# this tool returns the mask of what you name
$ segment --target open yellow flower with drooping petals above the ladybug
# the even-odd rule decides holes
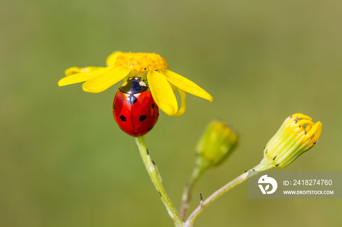
[[[117,51],[107,57],[106,64],[107,67],[69,68],[65,70],[65,77],[58,85],[86,81],[82,85],[85,92],[99,93],[125,77],[139,76],[147,79],[154,101],[169,116],[180,116],[184,113],[186,92],[213,101],[211,95],[191,80],[168,70],[169,65],[160,55]],[[181,97],[179,110],[173,91],[178,91]]]

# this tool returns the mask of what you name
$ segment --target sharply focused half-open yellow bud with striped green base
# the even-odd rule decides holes
[[[312,122],[304,114],[287,117],[278,132],[264,148],[264,158],[260,164],[270,168],[284,168],[310,150],[321,136],[322,123]]]

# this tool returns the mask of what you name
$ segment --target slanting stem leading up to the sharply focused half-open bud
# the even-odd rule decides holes
[[[192,214],[189,216],[187,221],[184,224],[184,227],[192,227],[194,221],[196,220],[197,216],[202,212],[202,210],[206,207],[208,207],[211,203],[213,203],[217,198],[219,198],[221,195],[226,193],[228,190],[233,189],[235,186],[241,184],[244,182],[248,177],[256,175],[256,171],[265,171],[271,169],[273,166],[269,165],[268,163],[264,163],[261,161],[259,165],[252,168],[249,176],[248,171],[242,173],[240,176],[236,177],[233,181],[229,182],[222,188],[215,191],[211,196],[209,196],[204,202],[201,202],[201,204],[192,212]]]

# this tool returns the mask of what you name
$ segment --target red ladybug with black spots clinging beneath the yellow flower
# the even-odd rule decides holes
[[[139,77],[130,77],[116,93],[113,114],[120,129],[139,137],[150,132],[158,121],[159,109],[149,88]]]

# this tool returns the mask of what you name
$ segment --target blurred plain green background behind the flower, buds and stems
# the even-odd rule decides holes
[[[154,52],[214,97],[188,95],[146,136],[176,207],[206,125],[223,118],[241,144],[194,189],[199,201],[262,158],[283,120],[321,120],[320,143],[286,170],[342,170],[341,1],[0,0],[0,226],[172,227],[134,138],[113,119],[117,87],[59,88],[71,66],[113,51]],[[245,182],[197,227],[341,226],[341,200],[252,200]]]

